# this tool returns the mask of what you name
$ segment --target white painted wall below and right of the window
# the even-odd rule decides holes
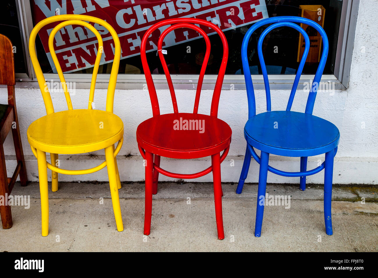
[[[334,95],[319,92],[316,98],[314,115],[334,123],[340,130],[341,139],[335,159],[334,183],[369,183],[378,184],[378,15],[372,6],[374,0],[360,1],[358,23],[356,26],[355,45],[353,50],[350,84],[347,90],[338,90]],[[89,90],[76,90],[72,96],[74,108],[87,108]],[[271,92],[272,109],[285,110],[290,91],[275,90]],[[6,103],[6,89],[0,88],[0,102]],[[180,112],[192,111],[194,90],[178,90],[176,92]],[[105,109],[106,90],[96,90],[96,109]],[[172,112],[172,102],[168,90],[158,91],[161,113]],[[211,104],[211,91],[203,91],[200,100],[199,113],[208,114]],[[67,109],[63,95],[52,94],[56,111]],[[28,177],[31,181],[38,180],[37,162],[32,154],[26,130],[37,118],[46,115],[42,95],[39,89],[16,89],[17,109],[19,114],[22,142],[26,158]],[[221,93],[218,117],[232,128],[231,148],[225,162],[222,164],[222,180],[237,182],[239,180],[245,154],[245,139],[243,127],[248,119],[246,92],[242,90],[225,90]],[[294,99],[294,111],[303,112],[307,93],[298,90]],[[118,165],[122,181],[139,181],[144,179],[143,159],[139,154],[135,139],[136,127],[139,123],[152,116],[149,95],[142,90],[116,90],[114,113],[120,116],[125,125],[125,141],[118,155]],[[265,92],[256,91],[257,113],[266,108]],[[365,128],[361,128],[362,122]],[[8,175],[15,166],[14,148],[11,134],[5,141]],[[98,165],[104,159],[104,151],[93,152],[99,155],[91,158],[88,155],[62,155],[60,166],[67,169],[90,168]],[[125,155],[131,154],[130,157]],[[67,160],[68,158],[68,160]],[[233,159],[235,166],[231,167],[227,160]],[[316,167],[320,157],[310,157],[308,169]],[[285,171],[299,171],[299,158],[271,156],[270,164]],[[210,165],[208,158],[193,160],[163,160],[162,167],[168,171],[192,173],[201,171]],[[258,164],[251,162],[246,182],[257,182]],[[50,172],[50,171],[49,171]],[[50,175],[50,173],[49,173]],[[72,180],[107,180],[106,168],[85,176],[59,175],[61,181]],[[160,175],[160,180],[172,180]],[[210,182],[212,175],[208,174],[195,181]],[[308,183],[323,183],[323,174],[307,178]],[[281,177],[268,174],[268,182],[299,183],[299,178]]]

